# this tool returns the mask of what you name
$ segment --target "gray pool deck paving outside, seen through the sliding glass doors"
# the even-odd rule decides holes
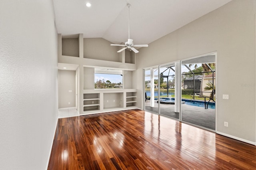
[[[155,101],[155,107],[150,107],[150,101],[146,100],[146,111],[158,114],[158,103]],[[181,105],[182,121],[192,123],[201,127],[215,130],[215,109],[204,109],[204,107]],[[174,112],[174,105],[160,103],[160,115],[179,119],[180,114]]]

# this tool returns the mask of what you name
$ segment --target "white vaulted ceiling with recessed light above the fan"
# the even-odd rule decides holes
[[[63,37],[84,34],[112,43],[130,38],[146,44],[177,30],[231,0],[53,0],[56,26]],[[86,7],[86,2],[92,4]]]

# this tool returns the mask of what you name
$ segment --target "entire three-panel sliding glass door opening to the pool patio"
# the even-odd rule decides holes
[[[144,69],[145,110],[215,130],[216,53]]]

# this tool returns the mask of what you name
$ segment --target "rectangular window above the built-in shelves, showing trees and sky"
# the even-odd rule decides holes
[[[123,70],[94,69],[95,89],[123,89]]]

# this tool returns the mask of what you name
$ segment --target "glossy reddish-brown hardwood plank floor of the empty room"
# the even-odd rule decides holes
[[[48,170],[255,169],[256,146],[140,110],[58,119]]]

